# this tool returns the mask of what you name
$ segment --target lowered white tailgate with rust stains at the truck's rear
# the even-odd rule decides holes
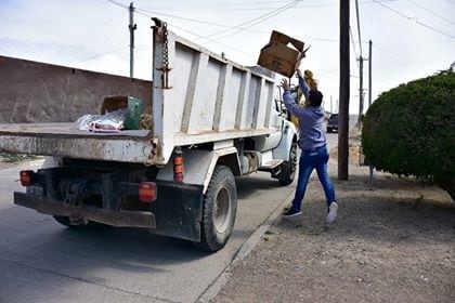
[[[150,130],[94,133],[73,123],[0,124],[0,152],[92,160],[150,162]]]

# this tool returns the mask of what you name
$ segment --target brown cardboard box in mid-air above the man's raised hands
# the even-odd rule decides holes
[[[270,42],[261,50],[258,65],[290,78],[304,57],[303,47],[302,41],[273,30]]]

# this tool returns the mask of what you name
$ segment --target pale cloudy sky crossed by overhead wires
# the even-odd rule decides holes
[[[0,55],[129,76],[127,0],[0,0]],[[151,17],[168,29],[245,66],[278,30],[311,45],[311,69],[326,110],[339,95],[339,0],[135,0],[134,77],[152,79]],[[359,57],[372,96],[447,69],[455,62],[455,0],[350,1],[350,113],[359,113]],[[358,23],[359,21],[359,23]],[[360,29],[360,32],[359,32]],[[280,79],[280,78],[278,78]]]

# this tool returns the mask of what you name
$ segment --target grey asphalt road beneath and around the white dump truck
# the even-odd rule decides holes
[[[329,148],[337,134],[327,134]],[[28,166],[38,168],[40,162]],[[25,164],[0,171],[0,302],[194,302],[290,195],[268,173],[237,180],[233,235],[214,254],[141,229],[74,230],[13,205]]]

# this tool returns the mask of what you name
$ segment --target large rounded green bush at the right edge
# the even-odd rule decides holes
[[[455,73],[401,84],[365,115],[362,146],[378,170],[434,181],[455,200]]]

